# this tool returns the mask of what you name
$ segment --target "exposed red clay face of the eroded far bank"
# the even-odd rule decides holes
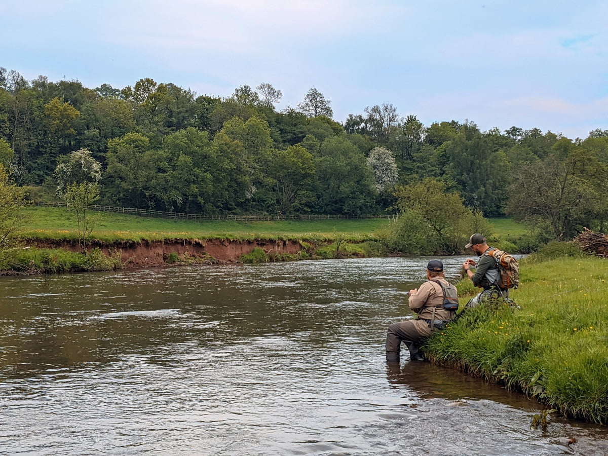
[[[48,249],[66,249],[78,251],[75,241],[49,241],[32,240],[30,245]],[[125,268],[146,268],[150,266],[163,266],[167,263],[170,254],[178,254],[179,257],[189,256],[201,261],[219,263],[237,263],[243,255],[249,254],[256,247],[260,247],[267,255],[271,254],[297,254],[303,250],[298,241],[286,240],[188,240],[174,239],[163,241],[125,241],[117,243],[105,243],[92,240],[88,244],[89,249],[98,247],[110,254],[120,250],[121,259]]]

